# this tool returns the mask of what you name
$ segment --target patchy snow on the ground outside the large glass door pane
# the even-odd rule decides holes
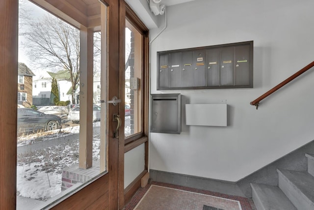
[[[99,122],[94,126],[100,126]],[[79,126],[65,128],[48,136],[30,135],[29,139],[19,141],[19,145],[79,132]],[[40,140],[38,140],[40,139]],[[61,192],[62,169],[78,163],[79,141],[71,141],[42,150],[24,153],[17,158],[17,195],[46,201]],[[100,158],[100,134],[93,137],[93,160]]]

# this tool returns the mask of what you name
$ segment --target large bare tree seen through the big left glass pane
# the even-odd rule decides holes
[[[72,103],[79,82],[79,30],[47,15],[40,21],[29,21],[23,43],[28,58],[37,67],[64,69],[70,73]]]

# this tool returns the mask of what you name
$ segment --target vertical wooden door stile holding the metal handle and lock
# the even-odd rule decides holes
[[[110,0],[107,7],[107,95],[106,99],[111,100],[113,96],[119,96],[119,74],[120,74],[120,15],[119,15],[120,0]],[[119,170],[121,169],[119,144],[120,139],[113,138],[113,133],[117,126],[117,121],[113,121],[113,114],[119,113],[119,106],[113,104],[107,105],[108,115],[106,117],[108,130],[106,132],[106,140],[108,143],[108,174],[109,174],[109,209],[119,209]],[[122,143],[123,144],[123,143]]]

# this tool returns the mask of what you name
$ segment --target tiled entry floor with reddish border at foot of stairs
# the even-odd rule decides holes
[[[253,202],[247,198],[153,181],[135,193],[125,210],[255,210],[255,208]]]

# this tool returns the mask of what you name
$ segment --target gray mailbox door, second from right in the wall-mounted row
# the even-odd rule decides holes
[[[234,86],[235,81],[235,48],[224,47],[220,53],[220,83],[221,86]]]

